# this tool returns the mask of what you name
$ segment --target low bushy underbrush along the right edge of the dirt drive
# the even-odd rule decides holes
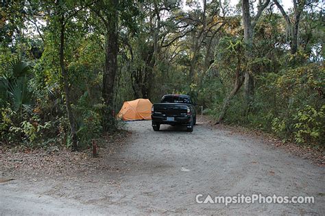
[[[230,101],[224,123],[272,133],[283,142],[324,149],[324,80],[324,67],[316,64],[258,77],[249,112],[243,109],[243,92],[239,92]],[[216,101],[206,112],[217,118],[221,106],[220,100]]]

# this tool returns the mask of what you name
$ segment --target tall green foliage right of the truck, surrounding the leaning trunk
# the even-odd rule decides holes
[[[219,96],[212,99],[215,104],[208,105],[212,107],[210,114],[218,117],[224,98],[232,89],[236,60],[240,58],[241,70],[248,69],[254,75],[254,99],[250,112],[244,112],[243,91],[239,91],[230,101],[224,121],[272,132],[284,141],[324,147],[324,64],[318,62],[320,56],[315,58],[308,50],[299,49],[292,55],[281,45],[274,46],[281,44],[284,37],[278,20],[274,16],[258,23],[250,61],[241,52],[244,45],[238,37],[220,38],[215,61],[208,70],[211,76],[204,80],[200,91],[212,91]],[[236,58],[238,53],[239,58]],[[215,79],[215,83],[219,80],[219,88],[209,86],[211,79]]]

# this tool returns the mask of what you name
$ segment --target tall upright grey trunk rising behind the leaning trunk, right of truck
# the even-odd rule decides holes
[[[248,58],[248,62],[252,58],[252,40],[253,40],[253,29],[252,29],[252,21],[250,18],[250,2],[248,0],[241,1],[241,8],[243,10],[243,29],[244,29],[244,39],[247,45],[246,48],[246,56]],[[245,70],[245,101],[246,106],[249,108],[250,101],[252,101],[252,96],[254,93],[254,78],[252,74],[250,74],[249,69]]]

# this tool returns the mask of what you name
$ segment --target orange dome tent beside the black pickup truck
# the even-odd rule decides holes
[[[134,101],[125,101],[118,119],[123,120],[149,120],[152,119],[152,102],[149,99],[135,99]]]

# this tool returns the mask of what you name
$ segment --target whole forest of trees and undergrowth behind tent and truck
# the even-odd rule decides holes
[[[216,123],[324,147],[324,3],[0,2],[5,145],[81,149],[123,101],[191,95]]]

